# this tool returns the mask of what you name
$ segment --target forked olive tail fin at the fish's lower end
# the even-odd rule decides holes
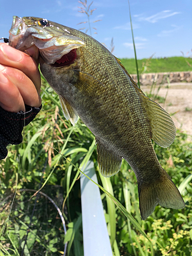
[[[152,214],[158,204],[174,209],[185,207],[179,190],[163,168],[160,178],[155,182],[138,181],[138,190],[140,212],[143,220]]]

